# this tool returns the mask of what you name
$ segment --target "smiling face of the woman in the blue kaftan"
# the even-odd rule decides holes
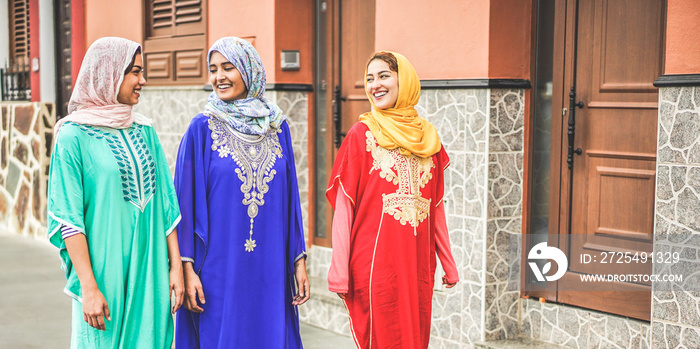
[[[241,73],[218,51],[212,52],[209,58],[209,82],[222,101],[233,101],[248,96]]]

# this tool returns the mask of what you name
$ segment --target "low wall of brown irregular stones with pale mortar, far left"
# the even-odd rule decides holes
[[[0,109],[0,229],[46,238],[54,106],[3,102]]]

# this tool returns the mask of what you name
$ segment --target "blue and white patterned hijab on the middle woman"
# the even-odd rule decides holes
[[[233,36],[217,40],[207,53],[207,66],[214,51],[221,53],[241,73],[248,89],[246,98],[223,101],[216,91],[209,95],[204,114],[226,122],[237,131],[249,135],[264,135],[270,128],[278,129],[287,119],[282,110],[265,98],[265,68],[253,45]]]

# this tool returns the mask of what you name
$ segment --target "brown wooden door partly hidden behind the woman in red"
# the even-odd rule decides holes
[[[332,209],[325,197],[335,155],[360,114],[367,58],[374,52],[375,0],[317,1],[316,224],[314,244],[330,246]]]

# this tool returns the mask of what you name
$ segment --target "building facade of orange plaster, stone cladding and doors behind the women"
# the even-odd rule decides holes
[[[17,1],[0,0],[0,8],[3,2]],[[302,321],[350,335],[342,303],[326,290],[332,212],[324,192],[343,132],[369,109],[366,59],[386,49],[416,68],[418,112],[438,128],[451,159],[445,205],[461,282],[444,289],[436,275],[431,347],[508,340],[700,346],[695,1],[24,2],[27,60],[38,62],[31,101],[46,111],[32,113],[31,127],[43,127],[32,139],[46,143],[39,135],[65,114],[86,48],[103,36],[126,37],[143,43],[148,86],[137,110],[154,119],[171,168],[181,135],[211,93],[208,47],[229,35],[253,43],[267,70],[266,94],[293,133],[313,293],[300,307]],[[6,142],[8,156],[28,147],[29,136],[13,136],[13,125],[25,129],[22,117],[9,116],[19,108],[13,103],[20,102],[3,102],[3,159]],[[6,114],[14,120],[7,128]],[[36,121],[39,114],[47,121]],[[36,181],[39,206],[30,214],[39,217],[33,234],[42,235],[43,182],[21,175],[41,178],[41,161],[12,160],[17,175],[3,161],[8,229],[18,224],[10,209],[21,204],[19,193]],[[531,250],[543,242],[567,256],[556,281],[537,278],[545,265],[533,262]],[[582,257],[635,254],[672,258],[604,265]],[[685,279],[591,286],[581,278],[618,272]]]

